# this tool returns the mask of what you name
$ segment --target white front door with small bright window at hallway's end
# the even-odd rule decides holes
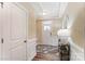
[[[42,22],[42,41],[43,44],[53,44],[52,33],[51,33],[51,21]]]

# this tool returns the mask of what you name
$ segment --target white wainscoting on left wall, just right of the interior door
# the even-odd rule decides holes
[[[27,42],[27,61],[31,61],[37,54],[37,38],[28,39]]]

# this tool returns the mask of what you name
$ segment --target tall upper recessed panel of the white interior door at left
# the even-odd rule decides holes
[[[26,37],[26,13],[17,7],[12,7],[11,39]]]

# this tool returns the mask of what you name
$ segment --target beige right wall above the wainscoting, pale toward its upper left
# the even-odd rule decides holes
[[[70,26],[73,42],[83,48],[85,42],[85,3],[69,3],[66,14],[69,16],[68,27]]]

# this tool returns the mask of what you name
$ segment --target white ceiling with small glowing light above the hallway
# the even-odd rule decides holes
[[[43,18],[61,17],[68,2],[30,2],[36,14]]]

